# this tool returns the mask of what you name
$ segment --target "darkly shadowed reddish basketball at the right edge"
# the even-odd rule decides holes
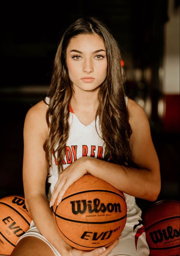
[[[180,255],[180,202],[162,200],[145,213],[143,224],[150,256]]]

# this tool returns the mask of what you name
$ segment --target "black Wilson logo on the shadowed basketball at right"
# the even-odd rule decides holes
[[[158,229],[149,233],[153,243],[161,243],[163,240],[173,239],[180,236],[180,230],[168,226],[166,229]]]

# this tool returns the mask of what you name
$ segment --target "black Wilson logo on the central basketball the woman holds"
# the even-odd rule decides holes
[[[105,205],[100,202],[100,199],[95,198],[93,202],[89,200],[77,200],[71,201],[72,213],[73,214],[84,214],[85,212],[89,213],[98,213],[98,212],[121,212],[121,205],[119,203],[108,203]]]

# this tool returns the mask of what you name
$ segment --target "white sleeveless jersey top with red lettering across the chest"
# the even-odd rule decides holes
[[[46,102],[49,103],[49,98],[46,97]],[[127,103],[127,97],[126,97]],[[99,127],[99,116],[88,126],[85,126],[76,117],[72,108],[69,109],[69,136],[66,143],[66,154],[63,160],[64,169],[67,168],[73,161],[80,157],[96,157],[102,159],[105,152],[105,143],[101,139],[101,132]],[[97,130],[96,130],[97,129]],[[54,190],[58,179],[58,168],[57,168],[57,155],[53,154],[53,163],[48,171],[48,183],[50,184],[48,199],[51,199],[51,195]],[[120,182],[120,181],[119,181]],[[141,210],[135,203],[135,197],[129,196],[124,193],[127,204],[127,217],[133,216],[139,217]],[[127,218],[128,222],[128,218]]]

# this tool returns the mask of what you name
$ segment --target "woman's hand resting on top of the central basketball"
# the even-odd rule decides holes
[[[57,205],[61,202],[65,191],[75,181],[83,177],[84,174],[88,173],[88,162],[92,157],[81,157],[69,165],[64,171],[59,173],[59,178],[54,187],[54,191],[50,201],[50,207],[54,205],[57,198]],[[92,158],[93,159],[93,158]],[[91,159],[91,160],[92,160]]]

